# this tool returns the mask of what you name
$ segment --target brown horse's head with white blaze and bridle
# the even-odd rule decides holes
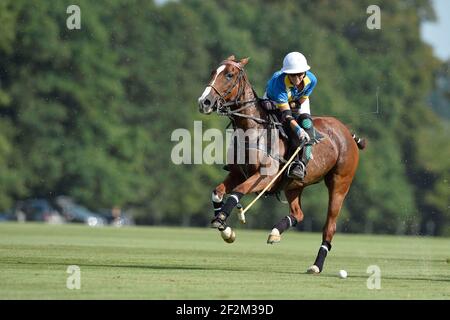
[[[237,101],[244,91],[244,66],[248,58],[236,61],[234,56],[222,61],[211,73],[211,79],[203,94],[198,98],[201,113],[210,114],[230,101]]]

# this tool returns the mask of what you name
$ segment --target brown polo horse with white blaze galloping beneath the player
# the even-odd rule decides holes
[[[261,106],[261,100],[257,98],[244,71],[247,62],[248,58],[237,61],[234,56],[228,57],[212,72],[209,84],[198,99],[201,113],[210,114],[217,111],[221,115],[227,115],[235,129],[244,131],[264,128],[269,122],[269,115]],[[303,181],[289,180],[289,183],[283,186],[290,207],[290,215],[275,225],[267,242],[271,244],[279,242],[283,231],[303,220],[302,191],[305,187],[323,179],[329,194],[327,219],[316,261],[307,271],[320,273],[325,257],[331,249],[331,241],[336,232],[336,219],[358,166],[358,148],[363,149],[365,142],[356,135],[352,136],[347,127],[335,118],[314,117],[313,122],[324,139],[313,147],[313,157],[307,165],[305,179]],[[253,152],[258,153],[260,150],[254,149]],[[281,138],[278,139],[278,152],[281,157],[289,156],[287,142]],[[280,159],[271,158],[271,160],[273,162]],[[267,163],[263,164],[260,161],[246,163],[243,170],[239,164],[231,164],[228,176],[214,189],[212,200],[215,218],[212,226],[221,231],[226,242],[233,242],[235,238],[234,232],[225,221],[233,208],[240,205],[240,198],[245,194],[263,190],[276,176],[277,172],[263,174],[261,169],[264,166],[267,166]],[[277,178],[269,191],[279,187],[282,176]],[[226,202],[223,201],[225,194],[229,195]]]

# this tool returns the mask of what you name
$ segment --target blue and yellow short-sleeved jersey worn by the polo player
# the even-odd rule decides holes
[[[266,94],[267,97],[274,101],[278,108],[286,110],[289,108],[289,102],[296,101],[300,98],[308,98],[317,84],[316,76],[306,71],[303,78],[303,89],[300,91],[294,86],[286,73],[277,71],[272,78],[267,82]]]

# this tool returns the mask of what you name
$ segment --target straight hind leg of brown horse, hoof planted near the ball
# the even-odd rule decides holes
[[[325,177],[325,184],[328,187],[328,214],[323,227],[322,245],[317,253],[316,261],[308,269],[308,273],[322,272],[323,264],[328,251],[331,250],[331,240],[336,233],[336,220],[342,208],[345,196],[347,195],[352,183],[353,175],[341,176],[339,174],[330,174]]]

